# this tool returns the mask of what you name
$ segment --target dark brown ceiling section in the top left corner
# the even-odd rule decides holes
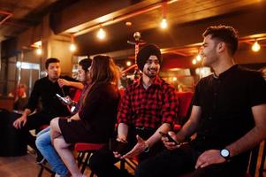
[[[0,42],[37,26],[52,11],[60,11],[75,0],[0,0]]]

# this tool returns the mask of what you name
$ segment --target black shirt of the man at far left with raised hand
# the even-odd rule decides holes
[[[76,81],[68,76],[60,78],[67,81]],[[38,103],[42,104],[41,112],[52,116],[68,116],[70,112],[65,104],[62,104],[57,98],[56,94],[60,96],[69,96],[70,87],[59,87],[58,82],[49,81],[48,76],[35,81],[34,89],[31,92],[26,108],[34,111]]]

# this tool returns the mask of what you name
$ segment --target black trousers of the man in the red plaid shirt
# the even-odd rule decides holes
[[[129,150],[132,150],[133,146],[136,144],[136,135],[140,135],[141,138],[147,140],[148,137],[155,133],[156,129],[151,128],[134,128],[129,129],[129,134],[127,141],[128,143],[124,144],[113,140],[111,150],[103,149],[96,151],[89,160],[89,167],[91,170],[97,174],[98,177],[107,177],[107,176],[116,176],[116,177],[127,177],[132,176],[127,173],[126,170],[120,170],[114,164],[119,161],[118,158],[115,158],[113,151],[119,151],[124,155]],[[163,150],[163,143],[157,143],[154,145],[148,153],[143,152],[138,157],[139,161],[155,156],[159,151]]]

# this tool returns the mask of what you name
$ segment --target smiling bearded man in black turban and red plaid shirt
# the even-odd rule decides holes
[[[142,77],[125,90],[112,150],[99,150],[90,158],[89,166],[98,177],[129,176],[114,165],[119,159],[138,156],[143,160],[163,149],[159,132],[171,130],[178,101],[174,89],[158,76],[161,64],[160,49],[154,44],[144,46],[138,53]]]

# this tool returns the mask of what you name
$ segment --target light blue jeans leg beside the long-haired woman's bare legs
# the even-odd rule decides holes
[[[35,143],[38,150],[41,151],[42,156],[49,162],[49,165],[51,165],[53,172],[59,175],[66,175],[68,173],[67,167],[51,143],[49,127],[39,132]]]

